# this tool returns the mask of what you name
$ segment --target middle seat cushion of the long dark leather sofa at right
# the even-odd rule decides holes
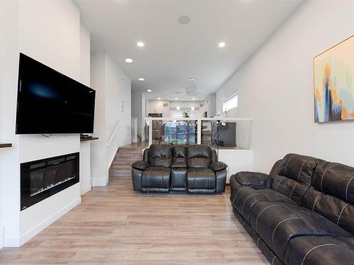
[[[349,232],[297,204],[259,202],[250,211],[251,227],[283,260],[288,242],[301,235],[349,237]]]

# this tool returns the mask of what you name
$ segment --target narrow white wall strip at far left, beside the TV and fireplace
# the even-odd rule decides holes
[[[18,3],[0,2],[1,12],[1,45],[0,45],[0,90],[2,141],[12,143],[13,148],[1,151],[2,160],[2,216],[4,237],[19,236],[20,230],[20,196],[19,196],[19,147],[18,136],[15,135],[16,96],[18,72]],[[6,95],[6,97],[5,97]],[[11,203],[8,203],[11,201]],[[8,218],[11,216],[11,218]]]

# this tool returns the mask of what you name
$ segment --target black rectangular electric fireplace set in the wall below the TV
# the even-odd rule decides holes
[[[79,182],[79,153],[21,163],[21,211]]]

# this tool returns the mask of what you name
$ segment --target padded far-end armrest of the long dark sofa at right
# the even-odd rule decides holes
[[[241,171],[236,173],[234,177],[240,184],[251,187],[270,188],[273,183],[273,179],[269,175],[260,172]]]

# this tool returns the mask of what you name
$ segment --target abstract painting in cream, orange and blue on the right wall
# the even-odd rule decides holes
[[[314,57],[314,120],[354,119],[354,36]]]

